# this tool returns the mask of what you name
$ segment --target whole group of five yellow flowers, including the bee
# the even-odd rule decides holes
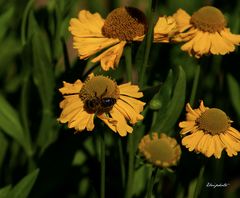
[[[215,7],[202,7],[192,16],[179,9],[172,16],[158,18],[153,42],[184,42],[181,49],[196,58],[206,54],[224,55],[240,43],[240,35],[232,34],[226,25],[224,15]],[[117,67],[127,43],[143,41],[148,24],[144,13],[133,7],[117,8],[105,20],[98,13],[82,10],[78,18],[71,19],[69,31],[79,58],[91,57],[91,62],[100,62],[101,68],[107,71]],[[84,82],[64,82],[59,90],[64,97],[59,121],[68,123],[77,132],[92,131],[96,116],[114,132],[126,136],[132,133],[132,125],[143,119],[145,103],[139,100],[143,93],[131,82],[117,85],[109,77],[90,74]],[[182,140],[190,151],[216,158],[220,158],[223,149],[229,156],[240,151],[240,133],[231,127],[223,111],[204,107],[203,102],[198,109],[193,110],[189,104],[186,109],[187,121],[179,126],[182,135],[190,134]],[[161,167],[175,165],[181,154],[175,139],[166,135],[158,137],[157,133],[143,137],[139,151]]]

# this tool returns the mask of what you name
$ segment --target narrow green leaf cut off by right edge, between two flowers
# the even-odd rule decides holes
[[[227,83],[231,103],[240,118],[240,84],[231,74],[227,75]]]

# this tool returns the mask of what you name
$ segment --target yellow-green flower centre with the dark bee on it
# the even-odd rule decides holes
[[[112,109],[119,94],[115,81],[105,76],[94,76],[85,81],[79,96],[87,112],[101,114]]]

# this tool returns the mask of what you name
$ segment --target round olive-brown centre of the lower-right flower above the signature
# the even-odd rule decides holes
[[[230,120],[227,115],[217,108],[206,110],[198,118],[197,122],[200,129],[212,135],[223,133],[230,126]]]

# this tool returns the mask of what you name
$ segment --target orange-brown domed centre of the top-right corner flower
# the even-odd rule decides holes
[[[205,6],[195,12],[190,20],[196,28],[204,32],[219,32],[226,26],[226,20],[222,12],[212,6]]]

